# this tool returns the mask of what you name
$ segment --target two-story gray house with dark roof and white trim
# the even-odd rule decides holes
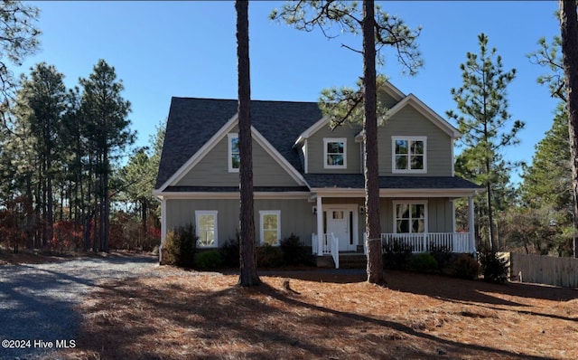
[[[460,133],[413,94],[387,82],[378,127],[381,241],[413,251],[474,252],[478,185],[454,175]],[[162,239],[193,223],[199,246],[216,248],[238,229],[237,99],[172,98],[154,194]],[[251,101],[256,237],[278,245],[292,232],[318,256],[364,251],[361,125],[331,131],[315,102]],[[455,229],[454,201],[468,198],[470,232]]]

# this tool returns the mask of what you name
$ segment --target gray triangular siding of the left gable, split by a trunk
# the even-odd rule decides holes
[[[230,131],[238,133],[235,127]],[[177,186],[238,186],[238,172],[228,172],[228,136],[194,166]],[[254,186],[297,186],[289,175],[266,150],[253,138],[253,185]]]

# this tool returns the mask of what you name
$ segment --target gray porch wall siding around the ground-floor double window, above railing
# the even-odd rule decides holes
[[[419,198],[381,198],[379,200],[379,219],[381,232],[393,233],[394,202],[427,202],[427,232],[452,232],[452,202],[447,197]]]

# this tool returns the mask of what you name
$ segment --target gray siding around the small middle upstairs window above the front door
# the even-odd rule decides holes
[[[355,136],[361,131],[359,125],[343,125],[331,131],[329,126],[320,128],[316,133],[307,139],[307,166],[309,174],[360,174],[360,146],[355,142]],[[324,168],[325,158],[323,157],[324,137],[345,137],[347,138],[347,168],[346,169],[326,169]]]

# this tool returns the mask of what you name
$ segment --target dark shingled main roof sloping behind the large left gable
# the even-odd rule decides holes
[[[172,98],[155,189],[237,113],[237,103],[237,99]],[[251,101],[253,127],[300,172],[303,168],[294,141],[320,118],[322,112],[315,102]]]

